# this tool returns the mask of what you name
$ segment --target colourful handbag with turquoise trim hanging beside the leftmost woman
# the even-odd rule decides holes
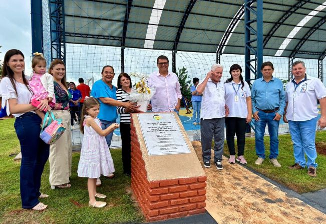
[[[51,122],[51,124],[45,128],[48,122]],[[54,144],[66,130],[61,122],[62,119],[56,119],[52,112],[47,112],[42,124],[40,138],[49,145]]]

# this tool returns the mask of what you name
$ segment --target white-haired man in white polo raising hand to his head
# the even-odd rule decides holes
[[[204,166],[210,167],[212,138],[214,137],[214,163],[221,170],[222,154],[224,148],[224,118],[228,109],[224,100],[224,84],[220,81],[223,66],[212,65],[204,80],[196,90],[198,95],[203,95],[200,113],[201,149],[203,152]]]

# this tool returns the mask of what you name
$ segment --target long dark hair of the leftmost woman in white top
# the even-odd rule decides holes
[[[7,51],[5,54],[5,58],[4,58],[3,74],[0,78],[8,77],[10,79],[10,82],[12,83],[12,85],[15,89],[16,95],[18,97],[18,93],[17,93],[17,89],[16,89],[16,85],[15,85],[16,81],[14,78],[14,72],[8,65],[10,58],[13,57],[14,55],[21,55],[23,57],[23,59],[25,60],[24,54],[20,50],[11,49],[11,50]],[[30,88],[28,88],[28,81],[25,78],[24,71],[22,72],[22,77],[23,77],[23,82],[24,82],[25,86],[27,87],[28,90],[30,90]]]

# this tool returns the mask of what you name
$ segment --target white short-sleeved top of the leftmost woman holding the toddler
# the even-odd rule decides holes
[[[27,78],[27,77],[26,77]],[[17,99],[18,104],[30,104],[32,93],[29,91],[29,89],[25,86],[24,83],[19,83],[15,81],[17,94],[16,95],[15,89],[13,84],[11,83],[9,77],[4,77],[0,81],[0,95],[2,96],[2,107],[5,107],[7,103],[7,114],[10,114],[9,111],[9,99]],[[35,113],[35,111],[31,111]],[[15,117],[19,117],[24,113],[21,114],[13,114]]]

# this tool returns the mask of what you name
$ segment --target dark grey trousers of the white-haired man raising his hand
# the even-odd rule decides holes
[[[204,162],[210,161],[212,154],[212,138],[214,137],[214,162],[222,159],[224,148],[224,117],[201,119],[200,136]]]

